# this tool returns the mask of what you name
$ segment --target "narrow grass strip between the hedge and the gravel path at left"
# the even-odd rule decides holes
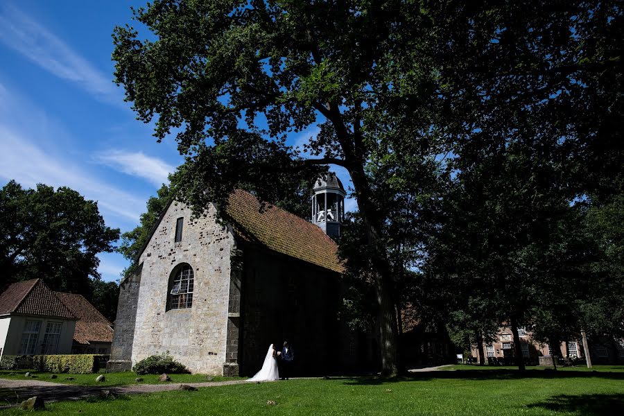
[[[116,372],[116,373],[98,373],[98,374],[56,374],[56,379],[51,379],[52,373],[47,372],[31,372],[32,378],[25,377],[28,370],[19,371],[0,371],[0,379],[11,380],[37,380],[37,381],[51,381],[53,383],[72,384],[72,385],[102,385],[102,386],[119,386],[130,384],[158,384],[159,375],[146,374],[144,376],[137,376],[133,372]],[[100,374],[104,374],[106,381],[97,382],[96,377]],[[173,383],[202,383],[205,381],[225,381],[235,380],[234,377],[222,377],[222,376],[205,376],[204,374],[169,374],[171,382]],[[141,377],[143,381],[137,382],[137,377]],[[68,380],[71,378],[73,380]]]

